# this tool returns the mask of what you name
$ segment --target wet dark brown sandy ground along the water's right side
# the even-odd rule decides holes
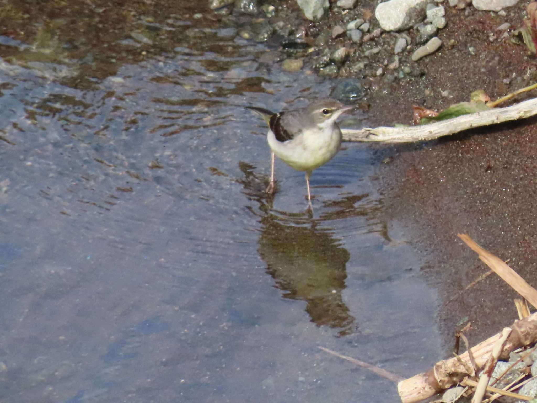
[[[499,17],[475,9],[465,16],[446,4],[448,26],[439,34],[441,51],[418,62],[426,72],[419,84],[396,82],[368,98],[374,123],[409,124],[412,104],[441,110],[469,100],[476,89],[496,99],[535,82],[535,58],[524,45],[510,38],[489,40],[489,33],[505,21],[518,28],[525,5]],[[510,77],[515,78],[504,82]],[[448,97],[440,95],[445,90]],[[534,96],[529,93],[501,106]],[[381,168],[387,214],[411,228],[408,239],[429,262],[423,270],[440,292],[441,334],[448,348],[457,324],[466,318],[473,325],[470,344],[517,319],[513,298],[518,296],[496,275],[465,290],[488,268],[456,234],[469,234],[537,286],[536,127],[537,119],[530,118],[438,141],[376,146],[391,161]]]

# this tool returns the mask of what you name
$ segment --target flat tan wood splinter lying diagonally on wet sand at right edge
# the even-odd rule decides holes
[[[526,298],[530,304],[537,308],[537,291],[531,285],[526,283],[526,280],[520,277],[516,271],[511,269],[499,257],[480,247],[468,235],[457,234],[457,236],[473,249],[479,255],[479,258],[490,267],[492,271],[513,287],[513,289],[521,296]]]

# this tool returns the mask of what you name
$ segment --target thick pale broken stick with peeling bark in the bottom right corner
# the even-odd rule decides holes
[[[537,312],[523,320],[514,321],[510,328],[512,332],[507,337],[500,358],[507,358],[510,351],[537,342]],[[502,333],[489,337],[489,339],[482,341],[471,349],[477,365],[482,366],[487,361],[492,348],[494,348],[500,337],[502,337]],[[468,364],[461,364],[459,359]],[[468,351],[466,351],[458,357],[439,361],[428,372],[402,380],[397,384],[397,391],[401,401],[403,403],[418,402],[462,382],[466,376],[471,375],[468,373],[468,368],[471,368],[469,362]]]

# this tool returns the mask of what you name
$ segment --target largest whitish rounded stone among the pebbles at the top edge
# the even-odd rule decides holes
[[[401,31],[425,18],[427,0],[389,0],[375,9],[375,17],[385,31]]]

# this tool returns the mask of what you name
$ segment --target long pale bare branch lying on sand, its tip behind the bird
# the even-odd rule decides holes
[[[376,141],[384,143],[406,143],[432,140],[463,130],[494,125],[510,120],[525,119],[537,114],[537,98],[504,108],[469,113],[458,118],[442,120],[428,125],[410,127],[376,127],[342,129],[343,141]]]

